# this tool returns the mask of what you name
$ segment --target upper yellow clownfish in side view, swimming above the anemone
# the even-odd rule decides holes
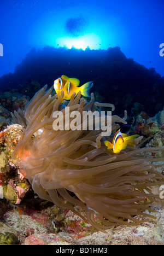
[[[93,82],[88,82],[78,87],[79,83],[80,81],[77,78],[69,78],[66,75],[62,75],[54,81],[54,89],[58,96],[60,96],[61,91],[64,91],[65,100],[70,100],[72,94],[75,92],[77,95],[79,91],[81,91],[81,95],[90,97],[89,90],[92,88]]]

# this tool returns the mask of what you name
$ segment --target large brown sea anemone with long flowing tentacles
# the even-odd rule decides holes
[[[136,215],[154,218],[144,211],[151,211],[151,202],[158,200],[151,187],[163,184],[164,176],[150,164],[158,159],[147,159],[139,153],[158,152],[162,148],[128,146],[114,154],[104,146],[101,130],[55,131],[52,124],[56,118],[52,115],[56,110],[65,115],[66,106],[70,112],[80,113],[93,112],[101,106],[114,107],[96,103],[93,94],[87,102],[80,92],[63,102],[62,92],[57,96],[52,94],[52,88],[46,91],[44,86],[24,111],[14,112],[13,120],[24,125],[25,130],[14,150],[13,161],[33,190],[57,207],[69,208],[101,231],[110,226],[145,221],[136,219]],[[126,123],[125,119],[112,116],[113,133],[119,127],[116,123]],[[65,127],[68,125],[66,122]],[[75,211],[76,205],[85,210],[86,216]]]

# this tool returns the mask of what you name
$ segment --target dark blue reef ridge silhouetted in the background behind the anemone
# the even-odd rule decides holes
[[[164,77],[155,68],[127,59],[119,47],[85,51],[50,46],[32,49],[15,67],[14,74],[0,78],[0,88],[14,89],[31,98],[45,84],[52,86],[62,74],[78,78],[80,85],[92,80],[91,91],[97,100],[113,103],[117,114],[123,115],[126,109],[132,116],[143,110],[152,117],[164,105]]]

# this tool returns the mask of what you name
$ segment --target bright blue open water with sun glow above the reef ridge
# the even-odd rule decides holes
[[[1,0],[0,77],[13,73],[32,48],[46,45],[119,46],[127,58],[163,76],[163,9],[163,0]]]

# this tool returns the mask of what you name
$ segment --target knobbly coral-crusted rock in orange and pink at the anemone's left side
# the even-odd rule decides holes
[[[0,132],[0,197],[16,204],[30,191],[30,184],[11,160],[23,130],[13,124]]]

